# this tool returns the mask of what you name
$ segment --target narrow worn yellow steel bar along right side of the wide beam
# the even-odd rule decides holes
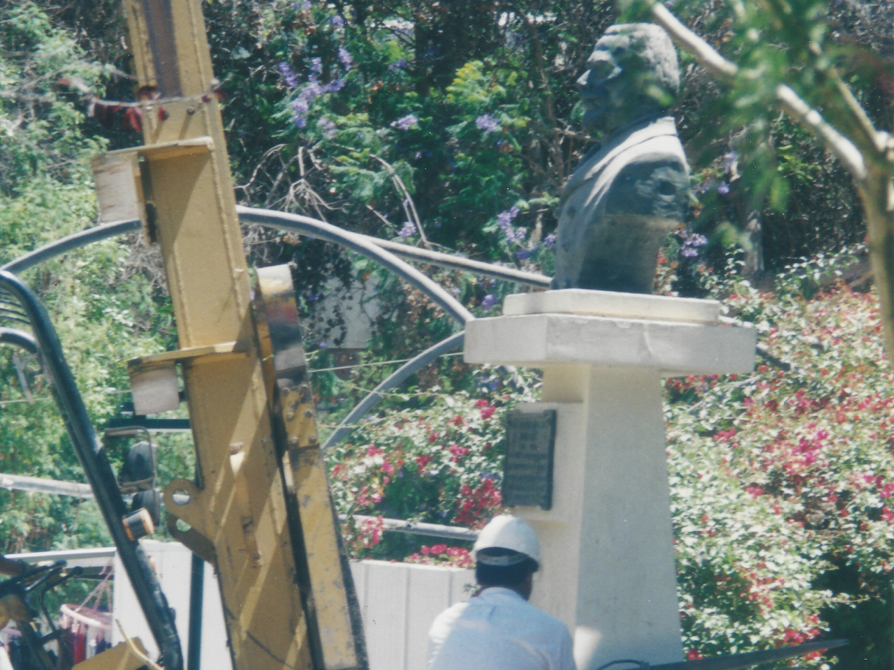
[[[316,403],[300,342],[298,306],[288,265],[257,269],[257,332],[282,441],[283,477],[304,549],[308,613],[325,670],[358,665],[350,598],[342,574],[340,526],[316,429]],[[273,337],[271,335],[273,331]],[[290,337],[291,336],[291,337]],[[278,340],[278,341],[276,341]]]

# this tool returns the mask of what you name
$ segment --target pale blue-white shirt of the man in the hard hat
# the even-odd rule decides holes
[[[514,590],[491,587],[434,620],[427,670],[577,670],[571,653],[559,619]]]

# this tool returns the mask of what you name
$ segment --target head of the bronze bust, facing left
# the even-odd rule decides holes
[[[677,52],[654,23],[620,23],[605,31],[578,79],[588,130],[611,132],[665,111],[679,88]]]

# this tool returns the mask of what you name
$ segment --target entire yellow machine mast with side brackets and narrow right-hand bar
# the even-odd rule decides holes
[[[165,490],[168,527],[215,565],[236,670],[364,667],[291,276],[259,270],[253,309],[200,2],[124,7],[145,144],[96,167],[136,194],[173,300],[180,349],[130,368],[156,411],[181,369],[198,481]]]

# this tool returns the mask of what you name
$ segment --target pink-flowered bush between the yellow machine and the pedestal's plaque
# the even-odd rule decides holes
[[[470,528],[484,525],[502,508],[503,414],[510,399],[492,395],[434,396],[424,408],[389,412],[361,423],[350,443],[329,453],[330,485],[339,512]],[[392,543],[412,540],[394,535],[388,533]],[[357,557],[405,557],[412,551],[417,562],[441,563],[443,558],[460,565],[468,560],[467,548],[460,553],[451,548],[447,554],[446,545],[427,551],[406,544],[381,545],[381,526],[366,522],[351,524],[347,537]],[[394,556],[399,549],[406,553]]]

